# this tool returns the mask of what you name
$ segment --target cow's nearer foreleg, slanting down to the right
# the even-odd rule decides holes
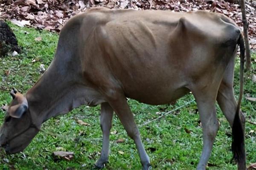
[[[143,166],[143,170],[148,170],[148,168],[151,166],[149,157],[141,142],[140,132],[137,128],[137,125],[135,124],[134,116],[131,113],[131,110],[128,106],[128,103],[126,102],[125,97],[122,97],[122,98],[116,99],[113,102],[110,102],[110,105],[116,112],[116,115],[119,117],[128,136],[130,136],[131,139],[134,140],[134,143],[136,144],[138,153],[140,155],[140,161]]]

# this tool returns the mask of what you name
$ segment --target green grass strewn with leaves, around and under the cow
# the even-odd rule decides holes
[[[0,106],[11,102],[9,90],[17,88],[25,93],[41,76],[39,65],[50,64],[58,42],[58,34],[48,31],[37,31],[34,28],[18,28],[9,23],[17,36],[23,52],[15,57],[9,54],[0,58]],[[41,41],[35,41],[42,37]],[[256,97],[256,83],[251,77],[256,74],[256,54],[253,55],[252,71],[245,74],[244,96]],[[237,57],[235,70],[235,93],[239,94],[239,61]],[[137,125],[158,117],[156,112],[164,113],[175,109],[193,99],[192,95],[184,96],[175,105],[145,105],[135,100],[129,100]],[[187,105],[174,113],[157,121],[140,127],[142,141],[150,157],[154,170],[190,170],[195,169],[202,150],[202,129],[198,124],[196,103]],[[256,122],[256,102],[243,99],[242,111],[247,120]],[[102,146],[102,132],[99,126],[100,107],[85,107],[74,109],[64,116],[49,119],[42,126],[47,133],[39,132],[32,143],[22,152],[15,155],[0,154],[0,169],[17,170],[91,170],[99,158]],[[217,105],[220,129],[216,137],[208,170],[233,170],[236,165],[230,163],[231,128]],[[5,113],[0,111],[0,124]],[[81,119],[91,126],[79,125]],[[186,133],[186,130],[191,133]],[[253,132],[254,130],[254,132]],[[256,162],[256,125],[246,122],[247,164]],[[134,142],[128,138],[119,119],[114,116],[111,130],[111,154],[105,170],[140,170],[141,164]],[[116,134],[117,133],[117,134]],[[121,134],[119,134],[121,133]],[[51,134],[51,135],[50,135]],[[117,139],[124,139],[117,143]],[[73,151],[75,157],[66,161],[54,159],[55,150]],[[121,154],[119,151],[122,151]],[[9,161],[9,162],[8,162]]]

